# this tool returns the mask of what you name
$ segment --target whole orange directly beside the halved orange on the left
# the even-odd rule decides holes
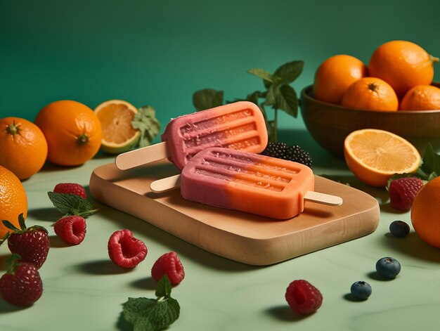
[[[101,122],[86,105],[60,100],[46,105],[35,118],[46,136],[48,160],[76,166],[90,160],[101,146]]]

